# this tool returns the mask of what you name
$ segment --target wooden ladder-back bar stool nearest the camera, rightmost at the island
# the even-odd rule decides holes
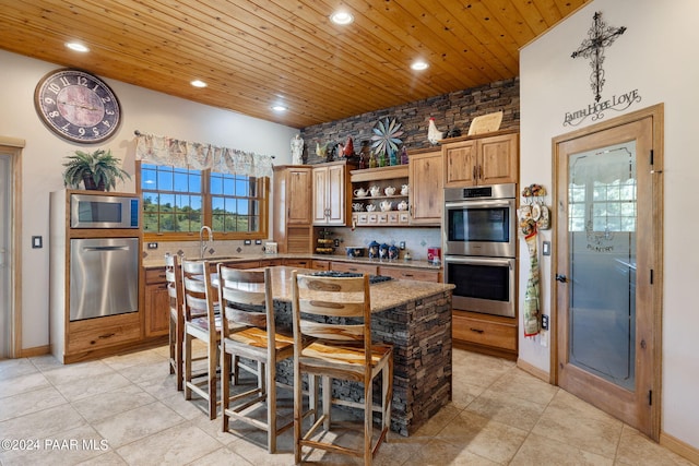
[[[294,456],[301,462],[301,447],[310,446],[363,457],[370,465],[379,446],[386,440],[391,422],[393,394],[393,348],[371,343],[371,304],[369,276],[320,277],[292,273],[294,328]],[[316,319],[313,319],[316,318]],[[318,338],[304,347],[301,337]],[[322,416],[303,432],[301,375],[321,378]],[[372,382],[381,374],[381,431],[372,440]],[[332,379],[362,382],[364,403],[332,398]],[[313,434],[320,426],[331,430],[331,404],[364,409],[364,442],[360,449],[351,449],[323,442]],[[323,435],[324,437],[324,435]]]

